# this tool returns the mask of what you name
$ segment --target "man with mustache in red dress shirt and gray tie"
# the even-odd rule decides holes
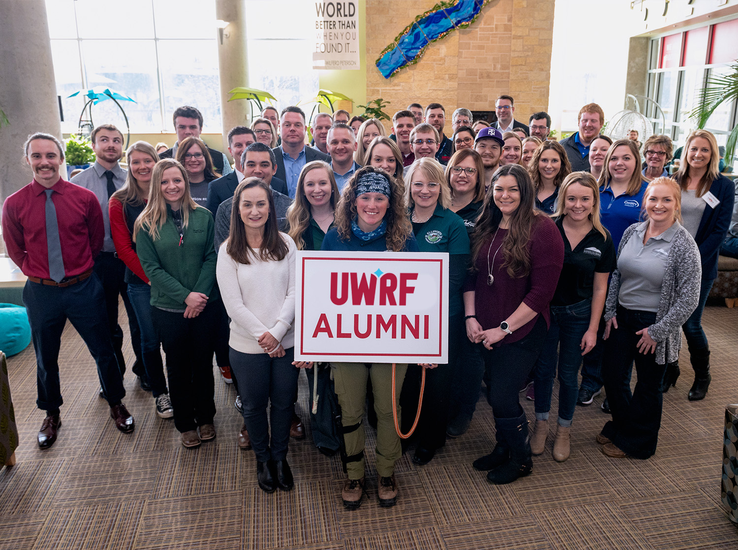
[[[61,427],[59,382],[61,333],[69,319],[97,363],[97,374],[118,430],[134,430],[134,418],[121,402],[123,377],[108,332],[103,287],[92,272],[103,248],[103,211],[90,190],[66,182],[64,153],[51,134],[32,134],[24,145],[33,181],[2,207],[5,250],[28,277],[23,303],[36,352],[38,399],[46,419],[38,446],[51,447]]]

